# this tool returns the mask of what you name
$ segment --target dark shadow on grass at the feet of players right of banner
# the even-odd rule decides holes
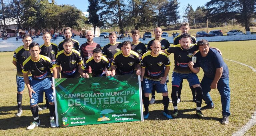
[[[169,110],[169,113],[172,114],[173,110]],[[183,109],[178,111],[178,117],[176,118],[187,118],[187,119],[202,119],[202,120],[215,120],[215,121],[221,121],[221,118],[216,118],[216,117],[198,117],[196,115],[196,109]],[[186,112],[195,112],[195,114],[185,114]],[[207,115],[205,115],[207,116]],[[176,119],[173,118],[173,119]],[[164,115],[163,115],[163,110],[153,110],[149,111],[149,118],[146,120],[168,120]]]

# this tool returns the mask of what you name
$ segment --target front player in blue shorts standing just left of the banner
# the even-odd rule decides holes
[[[55,108],[52,89],[52,74],[50,69],[53,71],[54,78],[57,78],[57,70],[49,57],[39,55],[40,47],[38,43],[31,43],[29,45],[29,52],[31,56],[23,62],[22,72],[24,75],[24,81],[28,87],[31,112],[35,121],[30,126],[28,126],[27,129],[34,129],[40,125],[38,108],[36,108],[36,105],[38,102],[40,102],[40,99],[43,98],[42,92],[47,94],[47,98],[50,104],[49,110],[51,127],[56,127],[56,121],[54,120]],[[29,70],[31,71],[33,78],[31,82],[29,82],[28,78]]]

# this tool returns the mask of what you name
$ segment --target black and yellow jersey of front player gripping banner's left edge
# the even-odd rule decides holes
[[[39,56],[40,56],[40,59],[38,61],[33,61],[31,59],[31,56],[29,56],[23,62],[22,73],[27,73],[28,70],[30,70],[32,74],[32,78],[36,80],[52,77],[50,69],[53,69],[55,66],[52,63],[51,59],[44,55],[39,55]]]

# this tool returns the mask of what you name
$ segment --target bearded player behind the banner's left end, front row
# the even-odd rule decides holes
[[[66,38],[63,42],[64,50],[60,51],[56,56],[57,77],[60,77],[60,65],[62,66],[61,78],[80,78],[78,72],[83,65],[80,53],[73,48],[71,38]]]

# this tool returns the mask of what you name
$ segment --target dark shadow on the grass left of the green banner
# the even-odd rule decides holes
[[[49,113],[40,114],[39,112],[40,125],[39,127],[43,128],[51,128],[50,125],[50,115]],[[16,129],[16,128],[24,128],[26,129],[31,122],[33,122],[33,116],[21,116],[15,117],[15,115],[11,118],[0,119],[0,130],[8,130],[8,129]],[[11,134],[10,134],[11,135]]]

